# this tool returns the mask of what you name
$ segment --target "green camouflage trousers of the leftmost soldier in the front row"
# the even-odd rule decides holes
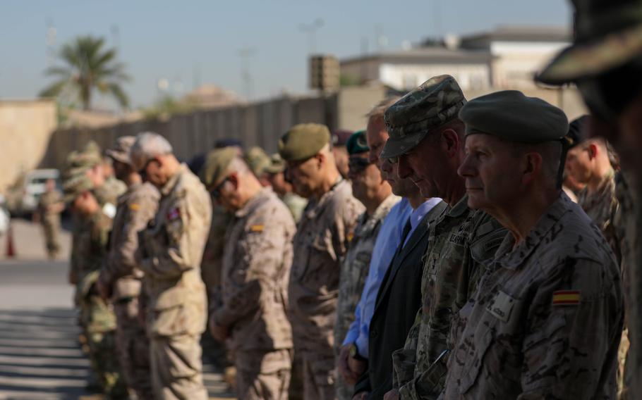
[[[80,320],[87,339],[90,362],[106,399],[127,399],[127,388],[116,356],[114,313],[99,296],[80,301]]]

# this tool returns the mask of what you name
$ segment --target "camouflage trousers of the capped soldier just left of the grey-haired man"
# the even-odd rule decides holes
[[[128,387],[138,399],[152,399],[150,346],[145,328],[138,320],[138,298],[121,299],[114,304],[116,349]]]

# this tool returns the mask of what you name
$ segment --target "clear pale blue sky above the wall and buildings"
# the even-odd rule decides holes
[[[400,49],[448,33],[571,20],[566,0],[0,0],[0,99],[32,98],[47,85],[49,25],[56,46],[87,34],[117,45],[133,106],[154,101],[161,78],[183,92],[213,83],[245,94],[242,49],[253,49],[254,99],[305,92],[310,44],[301,25],[317,18],[316,50],[341,58],[360,54],[365,41],[375,51],[377,37]]]

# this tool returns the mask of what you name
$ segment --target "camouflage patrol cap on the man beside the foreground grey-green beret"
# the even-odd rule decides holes
[[[466,104],[464,93],[450,75],[431,77],[384,113],[389,139],[380,155],[392,158],[417,146],[435,127],[457,118]]]

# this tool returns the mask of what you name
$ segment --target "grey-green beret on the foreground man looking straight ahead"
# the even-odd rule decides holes
[[[511,142],[542,143],[560,140],[569,132],[564,111],[517,90],[486,94],[468,101],[459,118],[466,135],[485,133]]]

